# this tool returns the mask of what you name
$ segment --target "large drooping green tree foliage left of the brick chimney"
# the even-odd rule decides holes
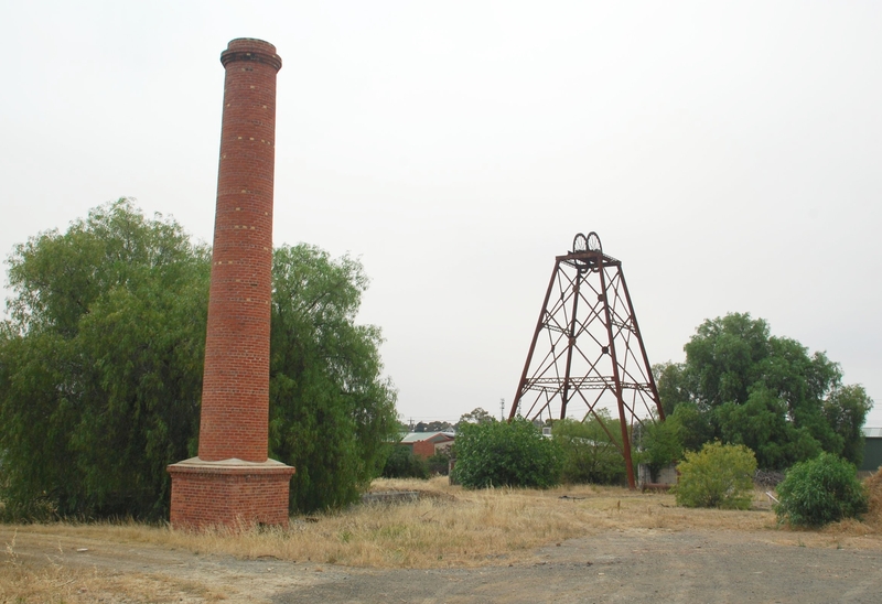
[[[0,334],[7,511],[159,517],[192,453],[208,251],[120,199],[9,258]]]

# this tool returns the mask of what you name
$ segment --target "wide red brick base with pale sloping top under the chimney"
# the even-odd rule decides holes
[[[294,474],[289,465],[275,460],[205,462],[192,457],[168,470],[174,528],[288,526],[288,493]]]

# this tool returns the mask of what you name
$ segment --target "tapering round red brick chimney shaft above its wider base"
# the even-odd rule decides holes
[[[276,74],[272,44],[238,39],[226,68],[198,456],[267,459]]]

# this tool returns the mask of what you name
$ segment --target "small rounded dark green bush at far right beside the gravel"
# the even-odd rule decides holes
[[[777,488],[778,519],[795,526],[820,527],[843,518],[857,518],[868,509],[868,497],[854,466],[821,453],[787,471]]]

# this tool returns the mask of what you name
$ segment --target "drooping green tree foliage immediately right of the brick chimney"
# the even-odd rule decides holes
[[[356,500],[398,435],[396,391],[381,377],[380,331],[355,317],[368,279],[316,247],[273,255],[270,453],[297,468],[291,508]]]

